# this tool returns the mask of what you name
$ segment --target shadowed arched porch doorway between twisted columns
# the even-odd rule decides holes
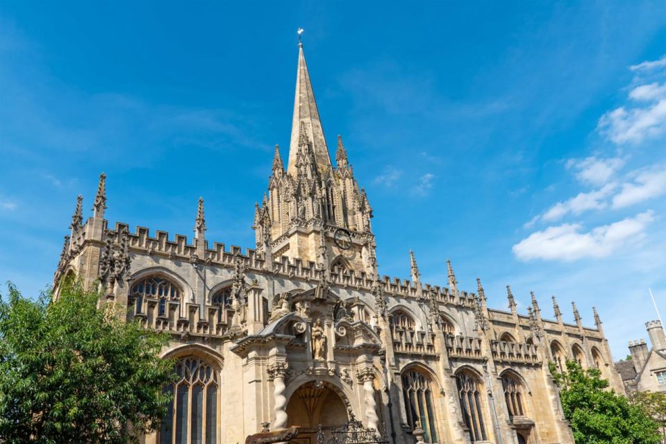
[[[301,427],[290,444],[315,444],[319,425],[328,438],[331,430],[349,420],[347,406],[334,386],[326,382],[306,382],[291,395],[287,404],[288,425]]]

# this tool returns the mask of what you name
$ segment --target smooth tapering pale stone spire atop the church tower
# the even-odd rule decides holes
[[[310,83],[310,74],[308,74],[308,65],[303,54],[303,44],[299,44],[299,65],[296,76],[296,97],[294,99],[294,117],[292,119],[292,137],[289,144],[289,162],[287,172],[292,176],[297,176],[297,153],[299,151],[299,130],[303,123],[306,134],[312,144],[313,153],[317,169],[322,176],[328,171],[333,171],[331,158],[328,156],[328,147],[324,138],[324,129],[322,121],[319,120],[319,111],[315,102],[315,93]]]

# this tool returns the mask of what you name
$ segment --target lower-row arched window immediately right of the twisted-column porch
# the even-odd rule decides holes
[[[426,443],[437,442],[435,409],[431,381],[423,373],[410,370],[402,375],[402,391],[407,409],[407,421],[415,429],[418,421],[423,428]]]

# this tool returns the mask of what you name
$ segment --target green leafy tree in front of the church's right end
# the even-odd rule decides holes
[[[553,364],[550,370],[576,444],[661,442],[659,425],[640,405],[608,390],[608,381],[596,368],[583,370],[578,362],[567,361],[565,372]]]

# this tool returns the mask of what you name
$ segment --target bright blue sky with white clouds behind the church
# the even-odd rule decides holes
[[[506,284],[546,317],[596,305],[624,357],[648,287],[666,314],[666,3],[567,3],[2,1],[0,280],[51,282],[101,171],[110,223],[191,236],[203,196],[207,238],[252,247],[300,26],[381,272],[408,278],[412,248],[492,307]]]

